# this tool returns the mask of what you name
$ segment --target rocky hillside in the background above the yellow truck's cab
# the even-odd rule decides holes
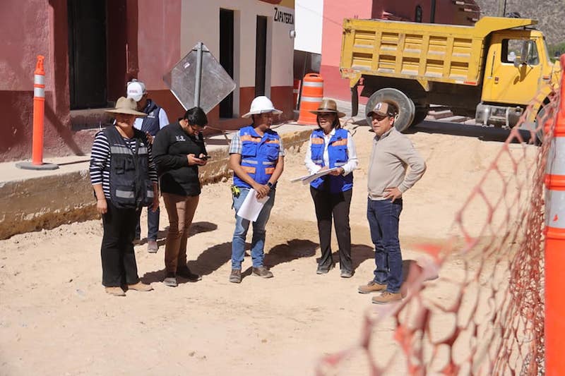
[[[481,16],[498,16],[499,0],[475,0]],[[538,20],[537,28],[547,44],[565,42],[565,0],[506,0],[506,14],[518,12],[523,18]]]

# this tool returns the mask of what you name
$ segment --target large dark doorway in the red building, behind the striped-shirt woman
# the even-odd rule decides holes
[[[106,0],[68,0],[71,109],[107,107]]]

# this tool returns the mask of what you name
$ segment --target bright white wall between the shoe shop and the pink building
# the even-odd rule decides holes
[[[295,0],[295,15],[295,49],[321,54],[323,0]]]

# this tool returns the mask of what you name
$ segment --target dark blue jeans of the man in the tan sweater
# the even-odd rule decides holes
[[[400,292],[402,284],[402,254],[398,240],[398,222],[402,212],[402,199],[367,199],[367,219],[371,241],[375,245],[375,277],[378,284],[386,284],[386,291]]]

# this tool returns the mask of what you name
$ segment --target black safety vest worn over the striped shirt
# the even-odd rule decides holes
[[[121,208],[139,208],[153,202],[153,183],[149,178],[149,154],[145,134],[133,128],[134,153],[115,126],[103,131],[110,147],[110,199]]]

